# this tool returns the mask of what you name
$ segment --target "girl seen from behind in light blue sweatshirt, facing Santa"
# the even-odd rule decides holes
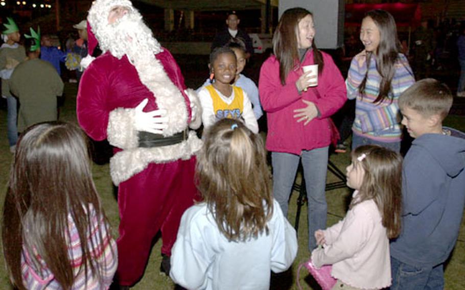
[[[188,289],[268,289],[270,270],[292,264],[297,237],[271,195],[262,137],[219,120],[204,134],[196,178],[203,202],[182,215],[171,278]]]

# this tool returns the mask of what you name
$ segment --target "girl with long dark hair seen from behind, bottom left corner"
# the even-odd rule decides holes
[[[19,138],[3,212],[3,251],[19,289],[103,289],[117,249],[83,132],[41,123]]]

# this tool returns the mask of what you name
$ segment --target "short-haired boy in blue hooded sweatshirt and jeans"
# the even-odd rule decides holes
[[[444,262],[455,246],[465,204],[465,134],[443,127],[449,88],[424,79],[399,98],[410,136],[404,158],[402,232],[391,241],[391,289],[444,289]]]

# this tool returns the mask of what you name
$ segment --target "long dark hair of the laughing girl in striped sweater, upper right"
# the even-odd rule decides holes
[[[380,43],[375,54],[372,52],[366,53],[366,74],[359,86],[359,92],[362,96],[364,95],[370,59],[374,57],[376,69],[381,76],[381,82],[378,97],[373,103],[382,103],[385,99],[389,98],[391,81],[396,73],[394,64],[399,58],[401,43],[397,36],[396,21],[389,12],[381,9],[371,10],[366,13],[363,19],[366,17],[370,17],[375,22],[380,32]],[[392,99],[390,101],[392,102]]]

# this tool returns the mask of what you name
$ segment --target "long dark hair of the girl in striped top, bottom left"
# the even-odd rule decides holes
[[[18,140],[3,212],[3,251],[12,283],[25,289],[21,275],[21,252],[38,256],[64,289],[75,281],[68,256],[68,215],[73,219],[82,252],[80,271],[87,268],[101,277],[92,263],[92,249],[100,249],[90,239],[91,213],[104,216],[90,168],[85,135],[75,125],[50,122],[32,126]],[[106,222],[106,221],[105,221]],[[98,227],[101,241],[102,232]],[[91,247],[91,248],[90,248]],[[36,252],[35,252],[36,251]]]

